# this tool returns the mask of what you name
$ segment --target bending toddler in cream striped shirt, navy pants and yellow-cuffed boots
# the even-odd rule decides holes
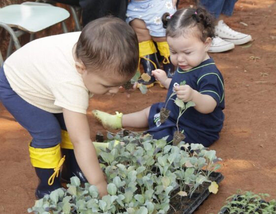
[[[0,101],[32,135],[38,198],[60,188],[60,177],[69,182],[72,176],[96,185],[100,196],[107,194],[90,139],[88,101],[94,93],[118,92],[135,75],[138,58],[136,33],[109,17],[90,22],[82,32],[36,39],[4,62]]]

